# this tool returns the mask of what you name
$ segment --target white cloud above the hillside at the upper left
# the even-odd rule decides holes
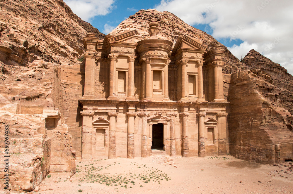
[[[107,15],[113,8],[114,0],[64,0],[73,13],[89,22],[97,15]]]

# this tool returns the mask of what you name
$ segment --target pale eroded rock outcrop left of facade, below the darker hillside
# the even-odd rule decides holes
[[[0,129],[9,126],[9,154],[27,159],[15,159],[9,172],[11,189],[30,191],[50,171],[75,172],[75,151],[64,120],[61,67],[42,60],[28,67],[8,67],[10,75],[0,86]],[[0,136],[4,147],[4,132]],[[31,162],[37,156],[41,159]]]

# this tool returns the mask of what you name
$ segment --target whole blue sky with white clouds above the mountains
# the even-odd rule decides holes
[[[140,9],[169,11],[207,32],[237,58],[255,49],[293,74],[293,1],[64,0],[81,19],[108,34]]]

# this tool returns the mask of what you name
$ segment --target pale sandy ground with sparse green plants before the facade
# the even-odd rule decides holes
[[[154,156],[76,164],[78,172],[71,178],[69,173],[50,173],[38,193],[293,193],[289,162],[273,166],[232,156]]]

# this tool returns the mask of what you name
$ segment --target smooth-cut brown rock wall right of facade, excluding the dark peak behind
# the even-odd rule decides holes
[[[258,91],[259,88],[278,90],[249,70],[231,75],[228,95],[229,153],[260,163],[292,160],[292,150],[283,150],[290,154],[280,157],[276,149],[278,144],[293,144],[292,115],[266,98]]]

